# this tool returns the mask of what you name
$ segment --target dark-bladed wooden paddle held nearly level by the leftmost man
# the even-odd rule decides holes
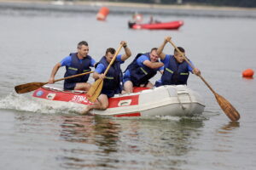
[[[73,77],[81,77],[81,76],[90,74],[92,72],[93,71],[89,71],[89,72],[84,72],[84,73],[81,73],[81,74],[78,74],[78,75],[74,75],[72,77],[64,77],[64,78],[55,80],[55,82],[59,82],[61,80],[66,80],[66,79],[73,78]],[[28,93],[28,92],[32,92],[32,91],[34,91],[38,88],[41,88],[45,84],[48,84],[48,82],[29,82],[29,83],[26,83],[26,84],[20,84],[18,86],[15,86],[15,91],[16,91],[17,94],[25,94],[25,93]]]

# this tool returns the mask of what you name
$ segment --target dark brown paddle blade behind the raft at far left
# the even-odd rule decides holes
[[[28,92],[32,92],[38,88],[41,88],[48,82],[29,82],[26,84],[20,84],[18,86],[15,86],[15,91],[17,94],[25,94]]]

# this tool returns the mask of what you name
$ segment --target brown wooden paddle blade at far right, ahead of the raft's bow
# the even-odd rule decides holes
[[[236,111],[236,109],[233,107],[233,105],[230,104],[228,100],[224,99],[224,97],[219,94],[215,94],[215,98],[218,101],[218,105],[232,122],[236,122],[240,119],[240,114],[238,113],[238,111]]]

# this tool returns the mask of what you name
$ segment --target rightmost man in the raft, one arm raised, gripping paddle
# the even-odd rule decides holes
[[[161,62],[165,64],[164,72],[160,80],[155,82],[155,87],[162,85],[178,85],[187,84],[189,78],[189,71],[195,75],[200,75],[201,72],[195,68],[194,70],[183,59],[183,56],[174,49],[174,54],[164,54],[162,51],[166,43],[171,40],[171,37],[166,37],[165,41],[157,49],[157,54],[160,55]],[[182,47],[177,47],[184,55],[185,50]],[[193,63],[189,61],[191,65]]]

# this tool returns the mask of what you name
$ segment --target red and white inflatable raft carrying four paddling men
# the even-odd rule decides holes
[[[194,116],[204,111],[201,96],[187,86],[162,86],[159,88],[135,88],[132,94],[116,94],[109,99],[106,111],[91,111],[101,116]],[[44,86],[33,97],[53,105],[93,105],[83,91],[63,91],[61,88]]]

